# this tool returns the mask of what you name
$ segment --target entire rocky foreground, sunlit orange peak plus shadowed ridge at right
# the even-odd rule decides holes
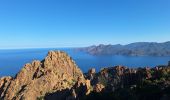
[[[66,53],[50,51],[16,77],[0,78],[0,100],[170,100],[170,66],[92,68],[83,74]]]

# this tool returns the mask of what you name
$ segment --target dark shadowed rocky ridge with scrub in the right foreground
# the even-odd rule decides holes
[[[170,100],[170,67],[103,68],[86,100]]]

